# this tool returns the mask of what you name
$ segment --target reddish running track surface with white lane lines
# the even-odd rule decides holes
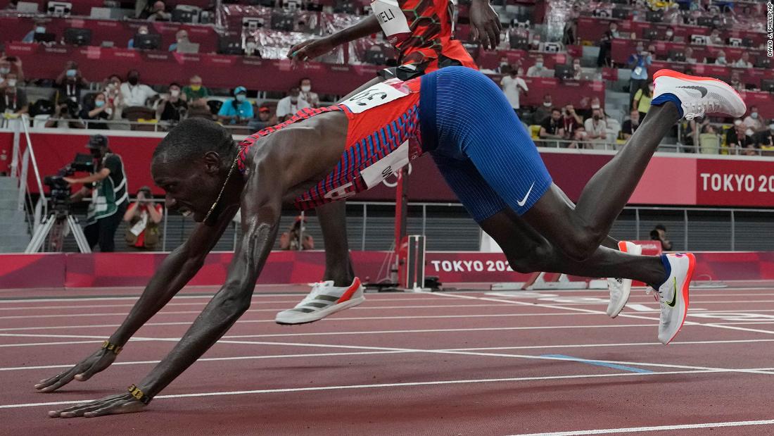
[[[774,288],[693,290],[668,346],[642,290],[615,320],[604,291],[477,290],[368,294],[293,327],[272,320],[301,295],[260,291],[145,411],[68,420],[46,412],[138,382],[213,290],[184,290],[56,393],[33,384],[97,349],[140,290],[0,293],[0,434],[774,434]]]

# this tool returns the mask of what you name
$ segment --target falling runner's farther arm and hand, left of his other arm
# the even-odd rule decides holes
[[[153,274],[148,286],[132,307],[132,311],[129,312],[118,330],[111,335],[108,342],[124,346],[143,324],[183,289],[204,265],[204,258],[207,257],[207,253],[214,247],[217,240],[221,239],[221,235],[230,224],[236,211],[237,208],[225,211],[215,225],[198,223],[194,227],[188,240],[171,252],[170,256],[166,256],[159,269],[156,269],[156,273]],[[70,383],[73,379],[81,382],[86,381],[97,372],[107,369],[115,361],[115,358],[115,352],[100,348],[73,368],[60,372],[49,379],[41,380],[35,388],[41,392],[52,392]]]

